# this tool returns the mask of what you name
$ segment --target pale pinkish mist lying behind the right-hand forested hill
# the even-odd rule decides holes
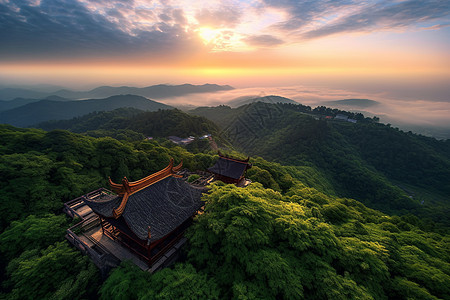
[[[380,122],[390,123],[403,130],[412,130],[425,135],[450,138],[450,101],[430,100],[408,96],[397,98],[397,92],[371,93],[318,86],[255,87],[231,91],[191,94],[167,98],[161,102],[182,109],[195,106],[227,105],[230,101],[244,96],[262,97],[277,95],[292,99],[312,108],[324,105],[342,110],[361,112],[367,117],[377,116]],[[369,107],[358,105],[330,104],[343,99],[370,99],[377,103]]]

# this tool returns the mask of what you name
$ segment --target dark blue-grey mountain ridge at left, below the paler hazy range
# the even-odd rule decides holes
[[[133,107],[148,111],[172,108],[135,95],[119,95],[82,101],[41,100],[0,112],[0,123],[26,127],[44,121],[70,119],[94,111],[109,111],[120,107]]]

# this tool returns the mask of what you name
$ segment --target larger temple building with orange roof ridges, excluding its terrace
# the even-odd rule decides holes
[[[182,163],[135,182],[109,179],[112,191],[100,189],[83,202],[99,217],[104,235],[118,241],[151,266],[182,237],[201,209],[203,188],[176,175]]]

